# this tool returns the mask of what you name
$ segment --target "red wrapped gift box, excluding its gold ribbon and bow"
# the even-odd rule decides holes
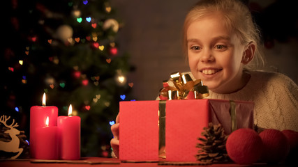
[[[159,101],[120,102],[119,159],[158,161]],[[230,108],[236,111],[231,119]],[[169,100],[165,105],[167,161],[196,161],[198,137],[209,122],[233,128],[253,128],[253,102],[228,100]],[[233,114],[232,114],[233,117]],[[235,123],[233,125],[232,120]]]

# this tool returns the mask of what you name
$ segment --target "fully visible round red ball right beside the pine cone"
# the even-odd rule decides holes
[[[225,145],[228,156],[237,164],[253,164],[262,155],[262,139],[253,129],[237,129]]]

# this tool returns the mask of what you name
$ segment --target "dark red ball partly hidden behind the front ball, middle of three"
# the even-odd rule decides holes
[[[262,161],[278,163],[287,157],[290,145],[281,131],[277,129],[265,129],[259,135],[264,144],[264,150],[261,156]]]

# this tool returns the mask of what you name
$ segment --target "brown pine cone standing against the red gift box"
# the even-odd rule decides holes
[[[198,138],[200,143],[196,146],[200,148],[196,155],[198,161],[211,163],[230,161],[227,150],[225,150],[225,143],[228,136],[225,135],[221,124],[213,125],[210,122],[208,127],[204,127],[204,132],[201,135],[204,138]]]

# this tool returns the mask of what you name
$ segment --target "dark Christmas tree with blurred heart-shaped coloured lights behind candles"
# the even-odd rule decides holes
[[[59,115],[72,104],[81,117],[82,157],[109,156],[110,125],[133,87],[129,56],[118,51],[121,23],[114,8],[107,0],[12,0],[5,6],[1,112],[25,122],[29,136],[30,107],[41,105],[46,93]]]

